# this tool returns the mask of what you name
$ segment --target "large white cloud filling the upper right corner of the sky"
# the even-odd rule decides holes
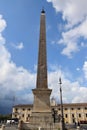
[[[66,31],[62,33],[59,43],[64,45],[61,54],[72,58],[73,53],[80,51],[83,45],[79,44],[80,37],[87,39],[87,0],[47,0],[52,2],[56,12],[62,12],[63,20],[66,20]],[[86,44],[86,45],[85,45]]]

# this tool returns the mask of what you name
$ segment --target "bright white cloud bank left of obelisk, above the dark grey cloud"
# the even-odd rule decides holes
[[[36,74],[30,73],[21,66],[17,67],[11,60],[11,54],[6,48],[3,45],[0,48],[0,84],[2,90],[22,91],[35,86]]]

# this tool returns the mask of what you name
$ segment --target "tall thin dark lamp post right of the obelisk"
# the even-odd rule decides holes
[[[59,84],[60,84],[60,105],[61,105],[61,117],[62,117],[62,120],[61,120],[62,129],[61,130],[65,130],[64,115],[63,115],[62,88],[61,88],[62,81],[61,81],[61,78],[59,78]]]

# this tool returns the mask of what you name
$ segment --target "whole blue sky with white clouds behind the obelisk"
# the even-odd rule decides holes
[[[51,97],[87,102],[87,0],[0,0],[0,113],[33,103],[43,7]]]

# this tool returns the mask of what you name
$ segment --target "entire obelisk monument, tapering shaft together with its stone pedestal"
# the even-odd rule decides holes
[[[41,11],[39,53],[37,66],[36,88],[33,89],[34,104],[32,111],[32,123],[44,124],[46,120],[52,122],[52,112],[50,107],[51,89],[48,88],[47,81],[47,54],[46,54],[46,23],[45,11]]]

